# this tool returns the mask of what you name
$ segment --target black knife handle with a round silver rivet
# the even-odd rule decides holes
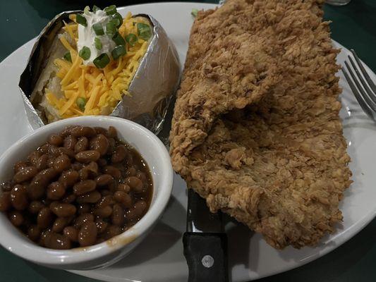
[[[226,233],[186,232],[183,247],[188,282],[229,281]]]

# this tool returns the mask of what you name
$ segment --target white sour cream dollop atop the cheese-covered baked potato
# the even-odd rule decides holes
[[[115,42],[111,37],[106,35],[106,24],[112,19],[111,16],[107,16],[102,10],[97,10],[95,13],[87,11],[83,13],[86,18],[87,26],[78,25],[78,51],[87,47],[90,49],[90,58],[83,61],[85,65],[94,66],[94,61],[100,54],[106,53],[108,56],[111,55],[111,51],[116,47]],[[95,23],[100,23],[104,30],[104,35],[96,35],[92,25]],[[94,39],[97,37],[102,43],[102,49],[98,50],[95,48]]]

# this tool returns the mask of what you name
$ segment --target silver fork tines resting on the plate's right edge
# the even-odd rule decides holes
[[[372,120],[376,121],[376,85],[371,80],[367,71],[365,71],[363,63],[358,58],[356,52],[353,49],[350,51],[353,54],[355,62],[353,58],[348,55],[348,61],[350,61],[352,68],[346,60],[345,65],[347,71],[346,68],[342,67],[342,73],[344,73],[348,85],[353,91],[354,96],[358,100],[358,103],[362,107],[365,114],[372,118]],[[348,73],[350,73],[351,78]]]

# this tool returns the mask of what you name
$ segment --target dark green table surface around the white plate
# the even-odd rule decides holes
[[[124,6],[150,1],[75,1],[75,0],[1,0],[0,61],[28,40],[37,36],[57,13],[99,3]],[[202,1],[216,3],[217,1]],[[357,51],[376,71],[376,1],[353,0],[347,6],[325,6],[325,19],[332,20],[332,38]],[[1,75],[1,74],[0,74]],[[283,281],[376,281],[376,219],[347,243],[298,269],[260,279]],[[0,281],[95,281],[66,271],[47,269],[25,262],[0,247]]]

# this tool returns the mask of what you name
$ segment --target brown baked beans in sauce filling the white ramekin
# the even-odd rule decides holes
[[[146,162],[114,127],[69,126],[13,166],[0,184],[0,212],[33,242],[51,249],[102,243],[149,209]]]

